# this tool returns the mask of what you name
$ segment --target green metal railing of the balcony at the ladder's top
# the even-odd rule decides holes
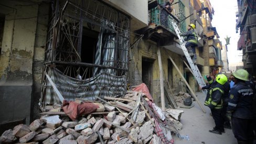
[[[159,1],[160,0],[158,0],[158,2]],[[180,1],[179,1],[178,5],[179,5],[178,13],[176,13],[174,15],[171,14],[165,8],[163,8],[161,6],[161,4],[153,9],[150,9],[149,13],[148,13],[149,14],[148,22],[150,23],[150,25],[152,23],[154,23],[158,26],[162,26],[162,27],[166,28],[167,30],[175,33],[174,28],[171,23],[171,21],[175,21],[178,24],[180,31],[185,32],[186,31],[186,23],[184,21],[185,6]]]

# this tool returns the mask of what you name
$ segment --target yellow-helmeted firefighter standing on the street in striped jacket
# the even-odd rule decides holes
[[[209,130],[210,133],[221,135],[225,133],[223,126],[222,117],[222,106],[223,106],[223,94],[224,94],[224,83],[228,81],[228,78],[224,74],[216,76],[216,80],[211,83],[209,91],[205,99],[205,105],[211,110],[212,117],[214,118],[215,127]]]

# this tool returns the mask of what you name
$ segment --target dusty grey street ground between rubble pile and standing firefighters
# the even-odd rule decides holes
[[[183,124],[183,129],[179,130],[181,136],[188,136],[189,140],[174,137],[174,143],[206,143],[206,144],[231,144],[237,143],[236,138],[231,129],[226,129],[226,133],[222,135],[212,134],[209,132],[215,126],[214,119],[210,116],[210,109],[204,105],[206,95],[202,92],[197,92],[197,98],[204,106],[206,113],[202,112],[200,106],[196,101],[194,107],[191,109],[180,108],[178,110],[184,110],[180,122]]]

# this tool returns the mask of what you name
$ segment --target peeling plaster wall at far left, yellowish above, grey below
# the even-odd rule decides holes
[[[19,1],[0,4],[0,13],[5,14],[0,61],[0,123],[26,118],[29,124],[38,4]]]

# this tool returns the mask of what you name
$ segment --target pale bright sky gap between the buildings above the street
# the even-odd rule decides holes
[[[229,64],[242,62],[242,51],[237,51],[237,41],[239,40],[239,31],[236,33],[236,11],[238,11],[237,1],[234,0],[210,0],[214,7],[214,16],[212,26],[216,27],[220,36],[222,45],[226,44],[226,36],[230,38],[228,45]]]

